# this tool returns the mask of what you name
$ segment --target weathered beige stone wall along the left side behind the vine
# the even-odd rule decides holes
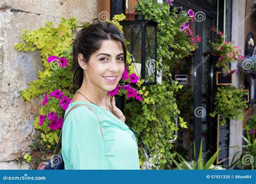
[[[17,163],[29,149],[33,121],[41,100],[24,101],[21,91],[43,70],[39,51],[18,52],[22,31],[37,30],[45,22],[60,23],[75,16],[78,25],[97,17],[97,0],[0,0],[0,169],[29,169]]]

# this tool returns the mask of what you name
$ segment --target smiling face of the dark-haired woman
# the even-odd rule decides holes
[[[116,88],[124,73],[124,52],[116,40],[104,40],[85,65],[86,78],[93,86],[105,91]]]

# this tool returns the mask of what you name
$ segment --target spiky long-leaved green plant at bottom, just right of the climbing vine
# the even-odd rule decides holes
[[[217,152],[215,152],[212,157],[206,162],[206,164],[204,163],[204,157],[205,154],[202,154],[202,149],[203,149],[203,145],[202,145],[202,141],[201,141],[201,145],[200,145],[200,150],[199,150],[199,155],[200,157],[198,157],[198,160],[196,161],[196,145],[194,143],[194,160],[192,160],[192,162],[187,161],[184,157],[182,157],[179,153],[176,152],[179,163],[176,161],[176,159],[172,158],[174,164],[177,166],[177,169],[214,169],[217,168],[217,166],[215,167],[211,167],[212,164],[214,163],[214,161],[217,158],[217,155],[219,154],[220,148],[218,148]]]

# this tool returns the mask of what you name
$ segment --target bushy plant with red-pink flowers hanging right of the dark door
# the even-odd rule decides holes
[[[226,40],[226,35],[223,32],[218,31],[215,28],[213,28],[212,31],[216,34],[214,42],[210,41],[212,54],[219,56],[216,67],[222,68],[223,73],[225,74],[230,73],[230,63],[242,60],[244,57],[240,55],[240,48],[238,46],[233,46],[234,41],[230,42]]]

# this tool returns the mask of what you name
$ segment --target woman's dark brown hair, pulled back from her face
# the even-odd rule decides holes
[[[73,93],[82,86],[83,83],[83,68],[79,66],[78,54],[81,53],[87,63],[90,56],[98,51],[104,40],[120,41],[124,52],[124,62],[126,62],[126,47],[124,36],[118,30],[117,26],[109,22],[100,22],[99,19],[93,19],[93,23],[84,27],[77,33],[73,41],[72,51],[72,72],[73,72]]]

